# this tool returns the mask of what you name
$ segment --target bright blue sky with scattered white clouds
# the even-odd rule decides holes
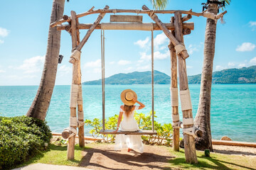
[[[166,9],[193,9],[201,12],[204,0],[171,0]],[[92,6],[104,8],[141,9],[151,7],[147,0],[140,1],[84,1],[65,2],[64,14],[70,11],[82,13]],[[0,1],[0,86],[39,85],[46,55],[48,26],[52,1]],[[256,17],[255,0],[232,1],[227,6],[225,24],[218,22],[215,43],[213,71],[227,68],[249,67],[256,64]],[[97,14],[80,18],[80,23],[93,23]],[[158,14],[161,21],[168,23],[171,14]],[[110,14],[102,20],[110,22]],[[151,23],[143,15],[144,23]],[[188,75],[200,74],[203,64],[203,44],[206,18],[196,17],[188,21],[195,24],[195,30],[185,35],[184,40],[190,57],[186,60]],[[81,39],[87,30],[80,31]],[[151,32],[137,30],[105,31],[105,76],[119,72],[151,70]],[[154,31],[154,68],[168,75],[171,73],[167,45],[169,40],[162,31]],[[60,54],[63,62],[58,65],[56,84],[71,84],[72,64],[68,62],[71,51],[70,35],[61,34]],[[95,30],[82,49],[82,81],[101,78],[100,30]]]

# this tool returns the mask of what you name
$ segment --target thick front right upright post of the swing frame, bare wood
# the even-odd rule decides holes
[[[181,13],[176,12],[174,13],[175,21],[175,33],[176,38],[179,42],[183,42],[183,28],[182,28],[182,18]],[[181,57],[181,55],[178,55],[178,80],[179,80],[179,86],[180,91],[185,91],[188,89],[188,77],[186,74],[186,60]],[[182,111],[183,118],[193,118],[192,115],[192,109]],[[183,125],[183,128],[191,128],[193,125]],[[183,134],[183,141],[184,141],[184,147],[185,147],[185,157],[186,162],[190,164],[198,163],[197,157],[196,157],[196,146],[195,146],[195,140],[194,137],[191,135]]]

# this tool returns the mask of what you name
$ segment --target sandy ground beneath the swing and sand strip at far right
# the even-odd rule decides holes
[[[77,140],[78,142],[78,140]],[[127,149],[114,151],[114,145],[93,145],[92,141],[86,141],[87,147],[82,153],[83,157],[79,166],[87,169],[169,169],[169,160],[174,159],[170,154],[171,147],[144,145],[144,153],[140,154]],[[220,154],[235,154],[256,159],[256,148],[234,147],[225,145],[213,145],[214,152]]]

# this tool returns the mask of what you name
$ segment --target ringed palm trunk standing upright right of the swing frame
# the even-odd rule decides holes
[[[218,0],[212,0],[218,1]],[[209,4],[208,12],[218,13],[217,4]],[[201,90],[198,104],[198,112],[194,121],[203,131],[203,137],[196,138],[196,149],[210,149],[213,151],[210,132],[210,91],[213,75],[213,57],[215,53],[216,23],[208,18],[206,23],[206,38],[203,52],[203,70],[201,75]]]

